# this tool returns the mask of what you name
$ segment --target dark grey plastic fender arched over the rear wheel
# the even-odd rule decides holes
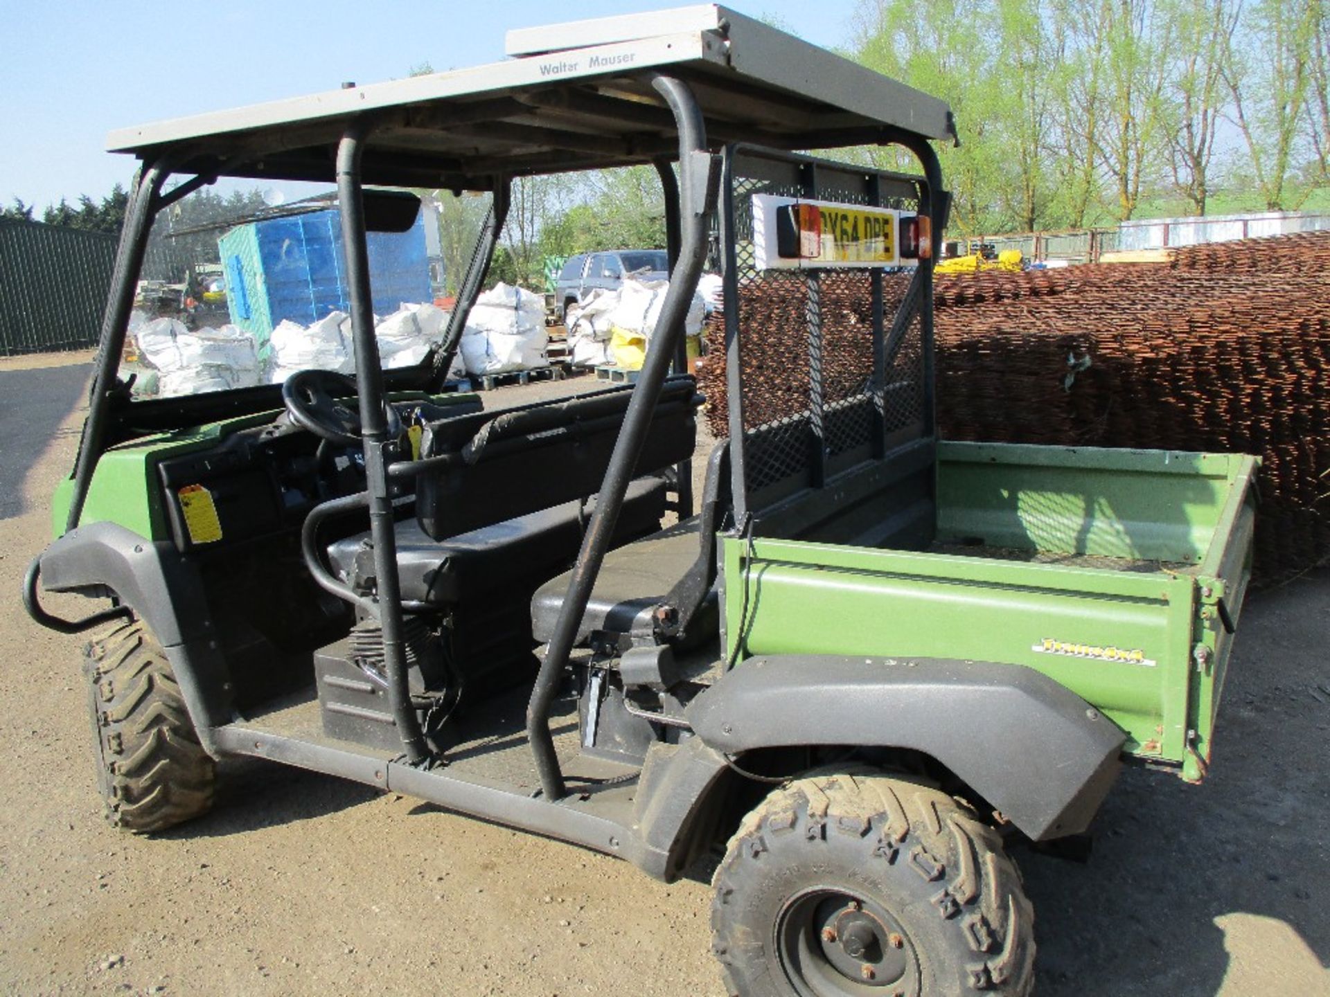
[[[729,755],[799,744],[920,751],[1035,840],[1089,826],[1125,740],[1032,669],[939,658],[750,658],[698,695],[686,717],[709,747]]]

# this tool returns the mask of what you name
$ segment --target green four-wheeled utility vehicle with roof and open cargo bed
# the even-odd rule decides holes
[[[214,759],[266,758],[666,881],[710,860],[737,994],[1029,993],[1005,847],[1084,835],[1124,764],[1205,775],[1256,461],[938,439],[940,101],[710,5],[508,49],[112,136],[141,170],[24,589],[45,626],[104,626],[112,823],[198,818]],[[914,167],[794,152],[868,145]],[[640,380],[511,408],[452,389],[513,182],[630,165],[658,171],[672,271]],[[354,355],[206,391],[121,363],[154,217],[219,178],[336,185]],[[368,257],[422,189],[491,209],[439,340],[392,367],[375,311],[402,302]],[[713,245],[706,400],[684,320]],[[313,324],[342,300],[309,294]],[[305,340],[266,346],[283,370]],[[729,433],[694,497],[702,404]],[[110,605],[66,619],[43,589]]]

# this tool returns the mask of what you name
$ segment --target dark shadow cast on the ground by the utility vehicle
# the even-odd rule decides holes
[[[1322,911],[1330,677],[1315,647],[1330,643],[1327,601],[1330,573],[1252,598],[1204,786],[1129,770],[1099,816],[1088,864],[1017,853],[1035,901],[1041,996],[1321,992],[1330,953]],[[243,833],[376,795],[281,766],[227,762],[218,810],[169,836]],[[439,810],[420,803],[411,812]],[[1245,968],[1234,970],[1237,952]],[[1281,976],[1271,978],[1275,952]]]

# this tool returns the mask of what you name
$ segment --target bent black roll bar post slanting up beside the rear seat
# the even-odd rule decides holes
[[[706,126],[693,92],[681,80],[657,74],[652,85],[665,98],[678,128],[680,173],[682,175],[681,251],[673,270],[669,291],[657,322],[657,342],[646,352],[637,387],[624,415],[624,428],[614,441],[614,451],[605,468],[600,497],[583,538],[577,564],[573,566],[540,674],[531,690],[527,706],[527,736],[540,772],[540,787],[545,799],[563,799],[567,790],[564,775],[549,732],[549,710],[568,655],[577,639],[577,630],[592,586],[600,574],[601,562],[624,505],[624,495],[633,476],[633,468],[650,428],[652,411],[660,399],[661,387],[676,359],[676,346],[684,336],[684,319],[697,288],[706,259],[706,219],[716,207],[717,158],[708,152]]]

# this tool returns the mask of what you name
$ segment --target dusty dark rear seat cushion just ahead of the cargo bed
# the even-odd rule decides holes
[[[694,517],[606,553],[587,601],[577,641],[585,641],[596,630],[626,634],[637,623],[646,626],[650,611],[697,564],[698,529],[700,521]],[[553,635],[568,594],[569,574],[551,578],[531,600],[531,629],[537,641]]]

